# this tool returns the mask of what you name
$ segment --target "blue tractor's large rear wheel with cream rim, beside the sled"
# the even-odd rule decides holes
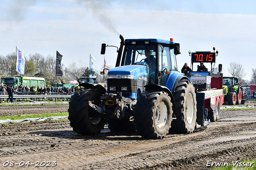
[[[171,130],[175,133],[191,133],[196,126],[196,93],[188,80],[177,83],[173,92],[176,103],[176,120],[172,121]]]

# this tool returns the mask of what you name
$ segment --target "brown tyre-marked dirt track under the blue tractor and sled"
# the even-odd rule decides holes
[[[67,109],[68,105],[0,106],[0,115]],[[0,169],[6,170],[204,170],[209,162],[255,157],[256,110],[221,111],[220,120],[207,127],[160,140],[144,139],[136,132],[110,132],[107,126],[100,135],[83,136],[69,121],[0,125]]]

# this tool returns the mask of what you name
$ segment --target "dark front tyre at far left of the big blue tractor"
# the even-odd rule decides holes
[[[80,89],[72,95],[69,102],[68,120],[73,130],[79,134],[94,135],[99,134],[106,120],[89,105],[92,101],[94,105],[100,106],[99,89]]]

